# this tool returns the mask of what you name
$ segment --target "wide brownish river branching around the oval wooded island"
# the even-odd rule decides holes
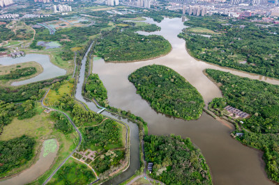
[[[195,86],[206,104],[214,97],[222,96],[218,87],[203,74],[202,71],[206,68],[232,72],[241,77],[259,79],[273,84],[279,84],[279,81],[197,61],[186,51],[185,41],[177,38],[177,35],[185,28],[180,18],[165,18],[160,23],[153,22],[153,19],[146,19],[145,22],[157,24],[161,30],[140,33],[163,35],[171,43],[172,51],[160,58],[135,63],[105,63],[103,59],[94,61],[93,72],[99,74],[107,88],[110,105],[142,117],[148,122],[149,134],[178,134],[183,138],[189,137],[202,150],[211,168],[214,184],[273,184],[264,171],[262,152],[242,145],[229,135],[230,131],[234,130],[233,124],[225,121],[218,122],[206,113],[202,113],[199,120],[192,121],[157,113],[140,95],[137,95],[135,87],[128,81],[128,75],[144,65],[166,65],[179,72]],[[133,136],[132,133],[131,136]],[[131,159],[131,165],[133,163],[135,161]]]

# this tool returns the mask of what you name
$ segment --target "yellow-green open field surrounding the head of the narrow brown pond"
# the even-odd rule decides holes
[[[33,118],[24,120],[18,120],[17,118],[14,118],[10,124],[3,127],[3,133],[0,135],[0,140],[10,140],[20,137],[24,134],[31,136],[36,140],[34,150],[35,155],[33,156],[33,159],[28,161],[24,166],[11,171],[10,175],[29,168],[38,160],[40,147],[42,146],[44,140],[56,138],[56,140],[59,142],[59,151],[57,153],[55,163],[52,165],[52,170],[53,166],[65,159],[75,147],[73,143],[73,140],[76,138],[75,134],[64,135],[61,132],[56,131],[53,126],[54,123],[50,120],[49,114],[44,113],[43,108],[41,108],[39,105],[36,107],[36,109],[38,114],[33,116]],[[47,172],[49,173],[46,173],[46,175],[50,175],[52,170],[48,170]]]

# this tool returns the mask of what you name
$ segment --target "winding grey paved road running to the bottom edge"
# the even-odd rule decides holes
[[[45,93],[45,96],[43,97],[42,102],[41,102],[41,104],[42,104],[42,106],[43,106],[44,108],[49,108],[49,107],[45,106],[45,104],[43,104],[43,102],[44,102],[44,100],[45,100],[45,97],[47,96],[47,94],[48,94],[49,92],[50,92],[50,89],[47,90],[47,93]],[[55,110],[54,108],[52,108],[52,110],[53,110],[53,111],[57,111],[57,112],[59,112],[59,113],[63,113],[62,111]],[[65,115],[65,116],[68,118],[68,120],[70,121],[70,123],[71,123],[71,124],[73,125],[73,127],[75,128],[75,131],[77,131],[77,134],[80,135],[80,141],[79,141],[79,143],[77,144],[77,146],[75,147],[75,150],[73,150],[73,152],[70,153],[70,155],[69,155],[69,156],[68,156],[55,170],[54,170],[54,172],[52,172],[52,174],[50,175],[50,177],[48,177],[48,178],[45,180],[45,182],[43,183],[43,185],[47,184],[47,182],[50,181],[50,179],[53,177],[53,175],[61,168],[61,166],[63,166],[64,163],[66,163],[66,161],[73,155],[73,153],[74,153],[74,152],[77,150],[77,148],[80,146],[80,143],[82,143],[82,134],[80,133],[79,129],[77,129],[77,127],[75,126],[74,122],[69,118],[68,115],[66,115],[66,113],[63,113],[63,115]]]

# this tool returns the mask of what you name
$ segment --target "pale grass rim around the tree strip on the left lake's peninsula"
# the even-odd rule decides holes
[[[28,77],[22,77],[20,79],[8,80],[8,81],[0,80],[0,85],[1,86],[10,86],[10,83],[12,83],[13,81],[22,81],[25,79],[31,79],[43,72],[43,67],[39,63],[28,62],[28,63],[20,63],[20,64],[15,64],[15,65],[0,65],[0,75],[10,74],[11,70],[22,69],[24,67],[36,67],[37,72]]]

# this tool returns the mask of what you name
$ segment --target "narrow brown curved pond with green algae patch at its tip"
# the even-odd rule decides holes
[[[47,145],[45,145],[45,143],[50,141],[56,143],[56,147],[52,151],[49,151],[47,149]],[[56,139],[45,140],[43,143],[42,150],[40,151],[39,160],[36,161],[36,163],[33,166],[31,166],[27,170],[24,170],[19,175],[0,182],[0,185],[21,185],[33,182],[38,177],[40,177],[40,175],[43,175],[50,168],[50,166],[52,166],[58,148],[59,147]]]

